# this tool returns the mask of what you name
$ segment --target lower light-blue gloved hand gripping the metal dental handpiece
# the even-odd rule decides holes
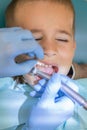
[[[55,130],[61,123],[73,115],[74,103],[63,95],[55,102],[61,81],[71,85],[74,90],[77,86],[66,76],[54,74],[46,85],[46,89],[33,108],[31,116],[23,130]]]

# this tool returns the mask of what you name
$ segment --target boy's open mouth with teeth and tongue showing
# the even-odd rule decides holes
[[[51,76],[53,73],[58,72],[58,67],[56,65],[52,64],[46,64],[42,63],[40,61],[37,62],[36,66],[33,68],[34,70],[39,70],[40,72],[44,72],[45,74]],[[24,75],[24,81],[28,83],[30,86],[34,86],[38,83],[39,80],[42,79],[40,75],[37,75],[36,72],[34,73],[31,71],[31,73]]]

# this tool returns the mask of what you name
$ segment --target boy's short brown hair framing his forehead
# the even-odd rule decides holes
[[[15,25],[15,11],[17,11],[17,8],[19,8],[26,3],[26,2],[38,2],[38,1],[44,1],[44,2],[56,2],[58,4],[65,5],[69,10],[73,13],[73,32],[75,30],[75,11],[73,4],[71,0],[12,0],[12,2],[9,4],[9,6],[6,9],[6,26],[7,27],[12,27],[12,26],[17,26]],[[20,62],[21,60],[24,60],[23,57],[19,56],[17,59],[17,62]],[[24,78],[23,76],[15,76],[14,79],[18,83],[24,83]]]

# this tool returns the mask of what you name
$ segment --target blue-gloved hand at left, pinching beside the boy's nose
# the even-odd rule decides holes
[[[35,66],[35,60],[15,63],[15,57],[21,54],[43,58],[43,50],[30,31],[16,27],[0,29],[0,77],[23,75]]]

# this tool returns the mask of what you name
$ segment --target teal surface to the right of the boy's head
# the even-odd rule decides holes
[[[74,61],[87,64],[87,1],[72,0],[76,12],[76,53]]]

